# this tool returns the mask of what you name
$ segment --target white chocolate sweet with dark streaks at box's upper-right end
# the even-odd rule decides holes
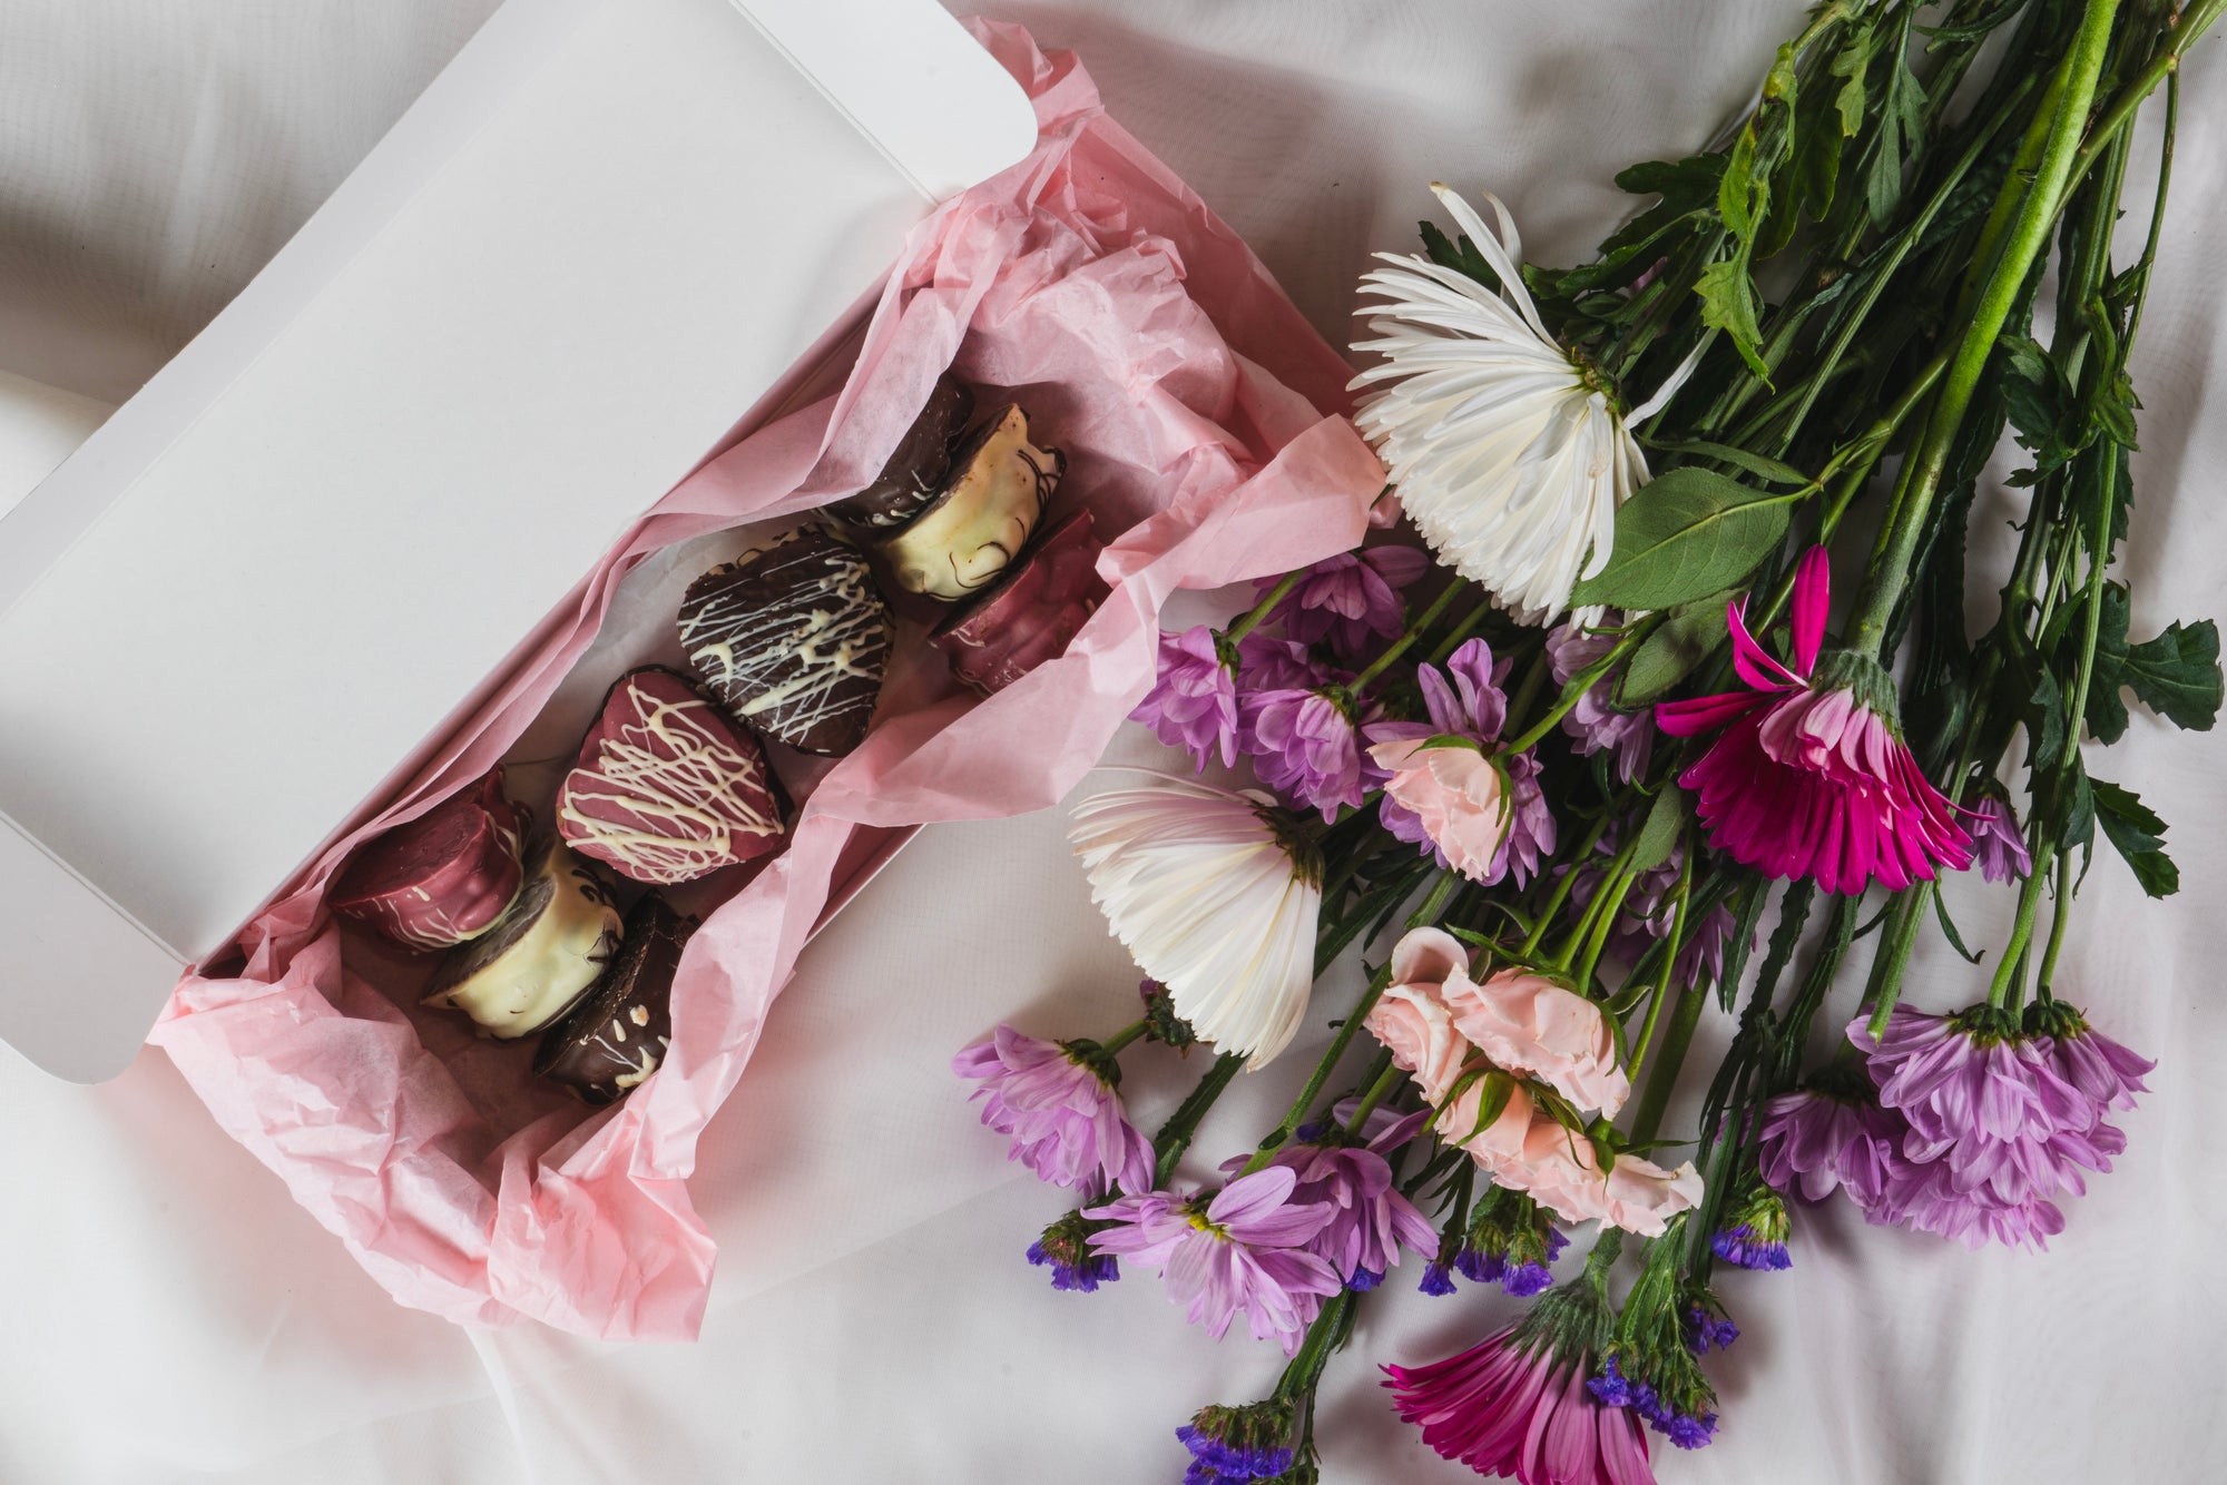
[[[964,599],[1029,545],[1065,472],[1067,456],[1029,443],[1029,419],[1009,403],[960,445],[935,505],[877,550],[906,592]]]

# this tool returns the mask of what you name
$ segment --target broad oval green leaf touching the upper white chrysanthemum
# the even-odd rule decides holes
[[[1652,610],[1737,588],[1784,541],[1786,501],[1708,470],[1670,470],[1617,512],[1608,566],[1570,601]]]

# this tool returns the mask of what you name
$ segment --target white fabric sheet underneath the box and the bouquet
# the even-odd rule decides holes
[[[0,470],[174,352],[345,176],[492,0],[0,2]],[[1011,4],[1078,47],[1114,111],[1343,341],[1370,247],[1407,249],[1445,176],[1490,185],[1570,260],[1608,176],[1701,142],[1799,0],[1089,0]],[[2223,603],[2214,470],[2227,350],[2227,42],[2189,69],[2182,167],[2136,356],[2136,626]],[[2133,196],[2136,191],[2131,191]],[[94,399],[87,403],[85,399]],[[76,434],[71,434],[76,430]],[[13,463],[11,463],[13,461]],[[9,492],[0,492],[4,499]],[[2007,514],[2004,505],[2000,514]],[[1125,750],[1151,759],[1149,739]],[[1966,1256],[1802,1218],[1786,1276],[1728,1276],[1721,1440],[1664,1481],[2216,1481],[2227,888],[2216,737],[2138,717],[2111,753],[2174,819],[2158,908],[2098,862],[2064,984],[2162,1058],[2131,1151],[2049,1256]],[[2007,913],[1962,895],[1966,935]],[[1929,955],[1913,995],[1978,984]],[[929,830],[815,944],[695,1193],[722,1245],[697,1347],[470,1334],[394,1307],[169,1064],[71,1089],[0,1051],[0,1481],[1174,1481],[1171,1429],[1263,1394],[1281,1358],[1183,1325],[1156,1280],[1056,1296],[1020,1262],[1060,1193],[1016,1176],[946,1060],[995,1020],[1073,1035],[1131,1011],[1053,815]],[[1321,1037],[1321,1031],[1314,1031]],[[1301,1053],[1305,1046],[1301,1046]],[[1697,1051],[1697,1058],[1706,1046]],[[1296,1060],[1296,1058],[1294,1058]],[[1178,1089],[1131,1075],[1140,1118]],[[1296,1073],[1240,1084],[1238,1149]],[[1410,1262],[1325,1387],[1332,1481],[1454,1481],[1385,1409],[1376,1360],[1468,1345],[1512,1302],[1412,1294]]]

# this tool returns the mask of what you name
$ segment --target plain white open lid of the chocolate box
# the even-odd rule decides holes
[[[0,514],[0,1037],[94,1082],[1036,142],[935,0],[510,0]]]

